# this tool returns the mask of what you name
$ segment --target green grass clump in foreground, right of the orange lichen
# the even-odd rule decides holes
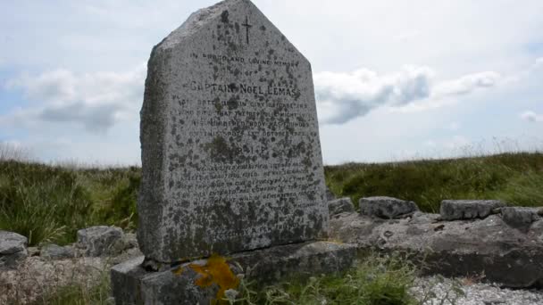
[[[295,279],[242,292],[233,304],[409,305],[417,269],[397,256],[370,255],[347,274]]]

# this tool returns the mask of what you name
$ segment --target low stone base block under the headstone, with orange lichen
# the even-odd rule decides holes
[[[317,276],[346,270],[356,258],[356,246],[311,242],[275,246],[173,264],[165,271],[149,272],[139,257],[111,270],[113,296],[118,305],[209,304],[235,289],[238,277],[270,284],[286,276]]]

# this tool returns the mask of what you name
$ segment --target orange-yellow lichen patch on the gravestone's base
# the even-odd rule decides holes
[[[219,255],[213,254],[204,266],[190,264],[188,267],[200,275],[195,281],[197,286],[208,287],[212,284],[219,286],[217,300],[222,300],[227,290],[238,288],[238,276],[234,275],[226,260]]]

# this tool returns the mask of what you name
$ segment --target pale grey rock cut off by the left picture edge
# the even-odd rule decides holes
[[[14,268],[26,258],[28,239],[17,233],[0,230],[0,268]]]

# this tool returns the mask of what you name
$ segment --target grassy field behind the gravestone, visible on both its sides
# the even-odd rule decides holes
[[[7,158],[4,158],[7,159]],[[443,199],[501,199],[543,205],[543,153],[325,167],[333,193],[388,195],[439,210]],[[29,237],[30,245],[71,243],[93,225],[133,229],[141,169],[78,169],[0,160],[0,229]],[[356,203],[355,203],[356,204]]]

